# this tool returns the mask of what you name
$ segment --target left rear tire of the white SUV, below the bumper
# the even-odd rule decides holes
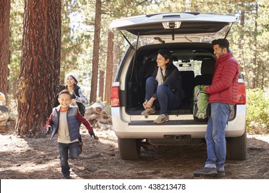
[[[141,145],[139,139],[118,138],[119,156],[121,159],[137,160],[140,156]]]

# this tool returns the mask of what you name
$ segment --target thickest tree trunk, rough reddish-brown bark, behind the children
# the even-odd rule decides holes
[[[39,136],[59,85],[61,1],[26,0],[21,70],[17,83],[20,136]]]

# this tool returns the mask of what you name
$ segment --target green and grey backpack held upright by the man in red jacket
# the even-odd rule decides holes
[[[210,116],[210,104],[208,103],[209,94],[205,89],[208,85],[196,85],[193,96],[193,118],[195,121],[206,122]]]

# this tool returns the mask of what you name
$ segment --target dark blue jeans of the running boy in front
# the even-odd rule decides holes
[[[70,167],[68,165],[68,150],[70,159],[76,159],[79,155],[79,142],[58,143],[61,160],[61,172],[63,176],[70,176]]]

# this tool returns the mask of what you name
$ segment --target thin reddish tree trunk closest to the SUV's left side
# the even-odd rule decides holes
[[[112,67],[113,67],[113,46],[114,46],[114,34],[108,32],[108,54],[106,58],[106,88],[105,88],[105,100],[106,105],[110,105],[110,90],[112,85]]]

